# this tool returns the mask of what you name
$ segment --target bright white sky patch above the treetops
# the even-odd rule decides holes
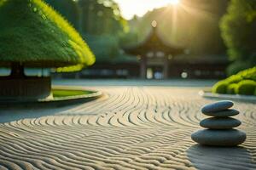
[[[160,8],[168,4],[176,4],[179,0],[113,0],[119,3],[119,8],[126,20],[131,20],[134,14],[143,16],[148,10]]]

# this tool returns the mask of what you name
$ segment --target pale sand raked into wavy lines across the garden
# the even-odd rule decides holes
[[[255,105],[235,102],[244,144],[205,147],[190,139],[214,101],[199,88],[100,89],[102,99],[0,124],[0,169],[256,169]]]

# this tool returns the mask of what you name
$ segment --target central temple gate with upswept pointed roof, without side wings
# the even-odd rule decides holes
[[[169,74],[169,60],[177,54],[183,54],[183,48],[177,48],[164,42],[157,33],[157,23],[152,22],[152,31],[143,42],[124,48],[126,54],[140,59],[140,77],[147,79],[166,79]]]

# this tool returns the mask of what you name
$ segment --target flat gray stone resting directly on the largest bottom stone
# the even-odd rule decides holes
[[[240,125],[241,122],[239,120],[231,117],[211,117],[200,122],[201,127],[211,129],[229,129]]]

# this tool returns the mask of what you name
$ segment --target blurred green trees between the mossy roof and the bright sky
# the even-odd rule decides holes
[[[96,54],[96,62],[122,60],[119,37],[128,29],[113,0],[79,0],[80,32]],[[124,61],[126,61],[124,56]]]

